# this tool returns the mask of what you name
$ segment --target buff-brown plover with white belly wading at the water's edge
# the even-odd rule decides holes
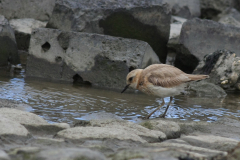
[[[167,64],[153,64],[145,69],[135,69],[127,75],[127,85],[121,93],[128,87],[140,90],[146,94],[155,95],[163,99],[162,104],[151,112],[149,117],[160,109],[164,104],[164,97],[170,97],[170,102],[161,117],[165,117],[167,110],[173,100],[173,96],[185,92],[187,82],[209,78],[208,75],[187,74],[180,69]]]

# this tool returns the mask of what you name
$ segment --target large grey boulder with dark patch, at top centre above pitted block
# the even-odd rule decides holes
[[[170,18],[168,5],[148,0],[58,0],[47,27],[143,40],[164,63]]]

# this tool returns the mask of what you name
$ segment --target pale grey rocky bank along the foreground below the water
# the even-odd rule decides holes
[[[129,122],[110,113],[49,124],[1,100],[0,159],[230,159],[240,142],[239,119],[189,122],[155,118]],[[6,105],[8,103],[8,105]],[[236,149],[234,149],[236,148]],[[238,155],[239,156],[239,155]]]

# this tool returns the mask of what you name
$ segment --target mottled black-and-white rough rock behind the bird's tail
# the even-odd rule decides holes
[[[240,90],[240,57],[227,50],[218,50],[204,57],[195,74],[208,74],[207,82],[214,83],[227,90]]]

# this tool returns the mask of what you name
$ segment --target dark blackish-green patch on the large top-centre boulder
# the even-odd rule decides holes
[[[156,52],[160,61],[166,62],[167,41],[161,36],[157,27],[143,24],[130,13],[123,11],[115,12],[105,20],[100,20],[99,26],[104,29],[106,35],[147,42]]]

